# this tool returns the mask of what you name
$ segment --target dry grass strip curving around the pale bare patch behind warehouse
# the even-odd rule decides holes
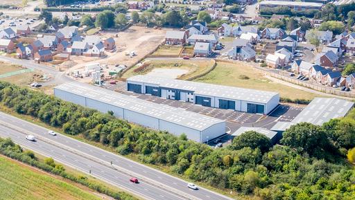
[[[144,64],[149,64],[145,69],[135,72],[139,66],[133,66],[131,69],[123,73],[122,78],[130,78],[134,75],[147,74],[153,69],[187,69],[189,72],[181,75],[178,79],[186,80],[195,75],[209,71],[214,65],[211,60],[146,60]]]

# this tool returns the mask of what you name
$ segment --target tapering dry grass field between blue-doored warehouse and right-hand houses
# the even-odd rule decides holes
[[[248,64],[232,64],[218,62],[214,71],[202,76],[194,81],[207,82],[212,84],[223,84],[233,87],[243,87],[249,89],[259,89],[265,91],[275,91],[280,93],[283,98],[311,100],[315,93],[309,93],[284,84],[272,82],[264,78],[263,74],[255,70]]]

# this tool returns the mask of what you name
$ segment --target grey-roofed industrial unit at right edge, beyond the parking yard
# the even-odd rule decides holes
[[[314,98],[291,122],[277,122],[271,130],[283,132],[299,122],[322,125],[331,119],[345,116],[352,107],[354,102],[339,98]]]

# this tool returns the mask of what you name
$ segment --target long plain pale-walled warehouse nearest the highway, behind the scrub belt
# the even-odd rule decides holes
[[[225,134],[224,120],[155,104],[89,84],[78,82],[61,84],[54,88],[54,95],[103,113],[113,111],[114,116],[144,127],[168,131],[176,136],[184,133],[187,134],[187,138],[199,143]]]

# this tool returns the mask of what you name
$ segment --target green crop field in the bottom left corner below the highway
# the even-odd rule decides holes
[[[87,189],[88,190],[88,189]],[[101,199],[76,185],[0,156],[0,199]]]

